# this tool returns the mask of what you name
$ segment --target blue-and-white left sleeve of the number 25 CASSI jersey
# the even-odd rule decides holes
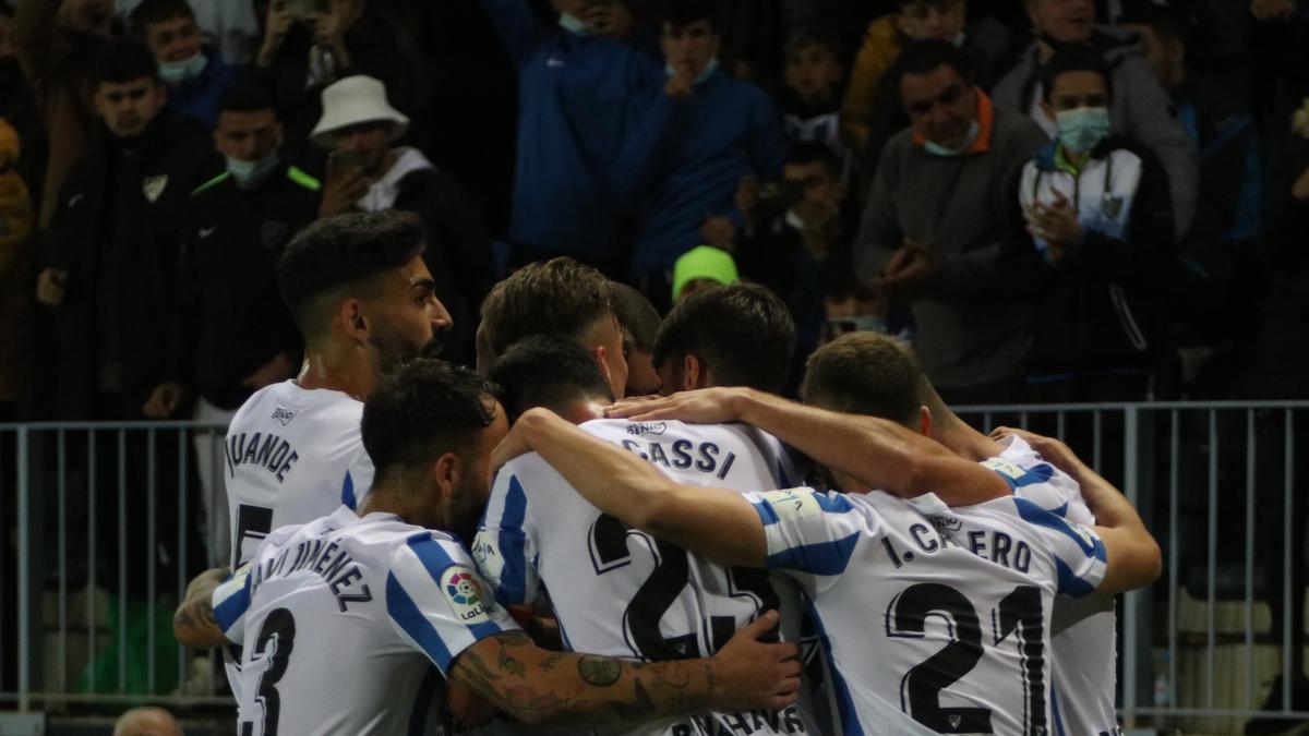
[[[473,559],[501,605],[530,605],[541,593],[537,528],[513,464],[496,477],[473,541]]]

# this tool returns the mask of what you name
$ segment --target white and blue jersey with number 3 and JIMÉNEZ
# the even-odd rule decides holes
[[[344,507],[270,534],[213,613],[247,736],[432,732],[454,659],[517,630],[458,540]]]

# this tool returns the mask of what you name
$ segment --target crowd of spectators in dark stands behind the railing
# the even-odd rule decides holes
[[[1302,397],[1305,38],[1304,0],[8,0],[0,418],[230,415],[300,364],[283,245],[389,208],[469,364],[571,255],[660,312],[758,282],[797,363],[902,335],[952,403]]]

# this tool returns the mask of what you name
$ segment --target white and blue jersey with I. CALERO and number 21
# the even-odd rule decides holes
[[[1021,498],[746,494],[772,570],[812,601],[839,733],[1045,733],[1050,614],[1105,574],[1103,543]]]

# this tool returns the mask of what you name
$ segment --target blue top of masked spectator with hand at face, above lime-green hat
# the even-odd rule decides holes
[[[745,174],[776,177],[785,157],[781,117],[763,89],[721,69],[674,102],[660,94],[624,149],[619,190],[641,202],[634,276],[672,268],[700,245],[706,217],[737,220]]]

